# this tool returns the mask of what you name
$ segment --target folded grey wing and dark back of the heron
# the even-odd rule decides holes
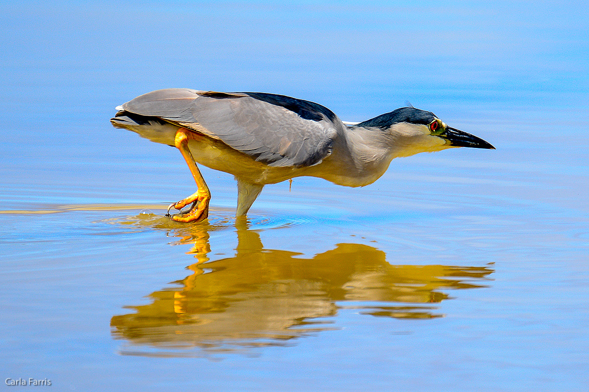
[[[329,156],[337,116],[317,103],[267,93],[153,91],[122,105],[219,139],[270,166],[312,166]]]

